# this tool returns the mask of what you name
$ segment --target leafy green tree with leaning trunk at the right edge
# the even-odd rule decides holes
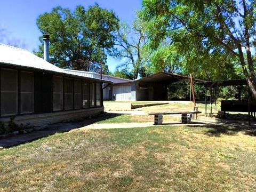
[[[255,1],[170,1],[144,0],[142,15],[148,22],[151,47],[161,42],[181,53],[187,68],[215,71],[221,76],[235,67],[243,75],[256,98]],[[217,69],[217,70],[216,70]]]

